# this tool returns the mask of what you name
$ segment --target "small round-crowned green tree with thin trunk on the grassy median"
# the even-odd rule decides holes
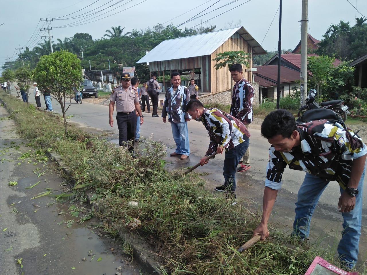
[[[51,97],[60,104],[65,135],[68,136],[65,113],[74,96],[73,88],[79,87],[83,81],[80,60],[75,54],[64,50],[44,55],[37,63],[34,75],[41,87],[50,88]]]

